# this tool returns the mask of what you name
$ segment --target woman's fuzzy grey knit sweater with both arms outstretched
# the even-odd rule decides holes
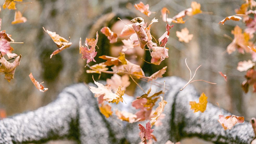
[[[168,89],[165,100],[168,103],[164,110],[166,116],[162,120],[163,125],[153,127],[153,134],[158,140],[156,143],[165,143],[167,140],[176,142],[189,136],[214,143],[251,143],[254,132],[250,123],[236,124],[231,130],[224,131],[217,121],[221,114],[217,107],[208,103],[204,113],[193,113],[189,101],[198,102],[196,90],[189,85],[180,91],[186,82],[178,77],[159,78],[157,82],[163,83],[164,80]],[[145,82],[140,85],[145,90],[150,87]],[[152,85],[153,92],[159,90],[159,87]],[[135,96],[142,94],[137,87]],[[130,112],[135,110],[131,108]],[[224,116],[231,115],[225,110],[222,112]],[[145,126],[146,122],[130,124],[116,118],[105,118],[99,112],[97,100],[88,85],[80,83],[65,88],[55,101],[44,107],[0,121],[0,143],[41,143],[73,137],[82,144],[138,144],[141,141],[138,124]]]

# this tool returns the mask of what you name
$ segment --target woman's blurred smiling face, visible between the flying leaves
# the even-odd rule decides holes
[[[129,20],[124,19],[123,22],[126,24],[132,24]],[[116,33],[118,36],[121,34],[121,31],[125,24],[122,21],[117,21],[116,23],[113,24],[111,30]],[[118,57],[119,52],[122,50],[123,42],[121,40],[123,39],[129,39],[129,36],[124,36],[124,37],[118,37],[116,43],[112,43],[110,45],[110,55],[112,57]],[[145,59],[145,50],[140,48],[140,46],[135,46],[133,49],[128,49],[125,53],[125,58],[132,62],[133,64],[140,65],[142,66],[144,61],[141,59]]]

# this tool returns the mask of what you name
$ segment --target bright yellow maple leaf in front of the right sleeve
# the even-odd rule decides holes
[[[199,103],[196,103],[195,101],[189,102],[189,105],[191,105],[191,109],[194,110],[194,112],[201,111],[204,112],[207,106],[207,96],[205,96],[204,93],[201,94],[199,97]]]

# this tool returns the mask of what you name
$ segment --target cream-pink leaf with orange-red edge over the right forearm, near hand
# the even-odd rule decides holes
[[[226,116],[219,115],[218,122],[224,128],[224,130],[231,129],[236,123],[243,123],[245,118],[243,116]]]

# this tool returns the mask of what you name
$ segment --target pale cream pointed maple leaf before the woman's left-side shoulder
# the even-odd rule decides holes
[[[93,79],[94,83],[98,86],[98,87],[89,86],[91,92],[94,93],[94,97],[99,97],[101,95],[104,95],[103,99],[108,102],[111,102],[114,99],[117,99],[120,97],[116,93],[112,92],[111,87],[109,85],[104,86],[103,84],[96,82],[94,80],[93,76],[92,76],[92,79]]]

